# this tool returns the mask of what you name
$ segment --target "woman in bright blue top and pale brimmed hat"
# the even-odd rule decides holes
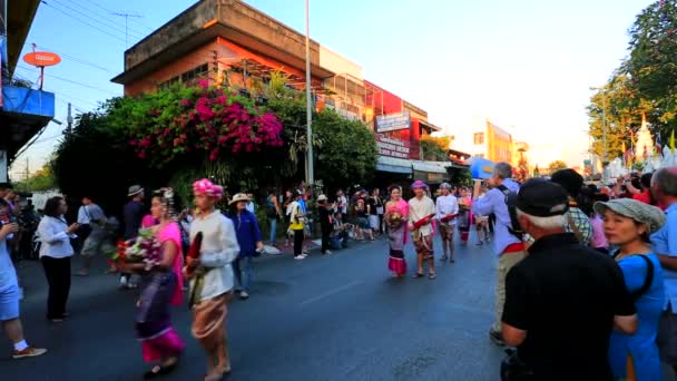
[[[609,243],[618,246],[614,257],[622,271],[639,322],[632,335],[611,333],[609,361],[614,377],[663,380],[656,334],[665,294],[663,271],[651,252],[649,234],[663,226],[665,215],[655,206],[630,198],[596,203],[595,211],[604,216],[604,233]]]

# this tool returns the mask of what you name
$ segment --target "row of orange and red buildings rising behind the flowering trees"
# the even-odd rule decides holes
[[[112,81],[128,96],[197,78],[248,95],[274,71],[290,87],[305,88],[305,36],[239,0],[203,0],[129,48],[125,71]],[[361,120],[377,135],[379,170],[444,177],[445,167],[420,160],[421,135],[441,130],[425,110],[364,79],[360,65],[312,40],[311,76],[317,108]]]

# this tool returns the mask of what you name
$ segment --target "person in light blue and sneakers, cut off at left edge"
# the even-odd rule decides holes
[[[0,198],[0,221],[9,214],[9,205]],[[35,358],[47,352],[46,349],[30,346],[23,338],[23,328],[19,319],[19,300],[21,292],[17,271],[7,248],[7,240],[19,231],[16,223],[0,223],[0,322],[7,338],[14,345],[13,359]]]

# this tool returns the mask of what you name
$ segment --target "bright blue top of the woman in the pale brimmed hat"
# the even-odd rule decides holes
[[[632,354],[638,381],[663,380],[660,358],[656,345],[658,321],[665,304],[663,270],[655,254],[647,254],[654,263],[654,282],[649,290],[635,302],[638,326],[635,334],[628,335],[618,331],[611,332],[609,339],[609,363],[614,375],[626,377],[628,354]],[[638,255],[628,256],[618,262],[629,292],[639,290],[647,275],[647,263]]]

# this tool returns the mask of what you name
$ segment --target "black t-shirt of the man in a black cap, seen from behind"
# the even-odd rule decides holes
[[[506,279],[502,320],[527,331],[518,353],[538,380],[611,380],[614,316],[635,312],[616,262],[571,233],[538,240]]]

